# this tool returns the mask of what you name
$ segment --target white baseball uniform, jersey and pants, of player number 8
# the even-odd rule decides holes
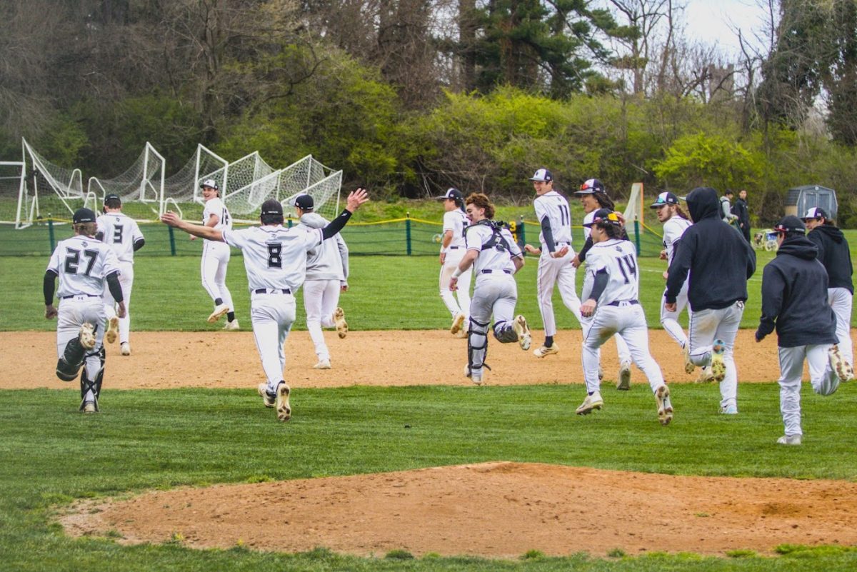
[[[209,201],[211,202],[211,201]],[[294,293],[306,277],[307,253],[321,244],[321,229],[281,224],[248,229],[223,229],[226,245],[240,248],[250,289],[250,319],[256,349],[274,393],[283,381],[285,338],[295,322]]]

